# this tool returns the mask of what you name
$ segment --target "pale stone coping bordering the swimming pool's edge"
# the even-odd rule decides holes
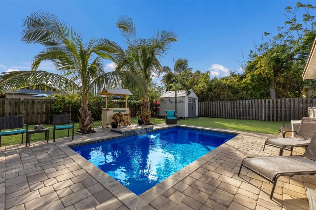
[[[227,142],[223,143],[216,149],[208,152],[207,154],[203,155],[202,157],[198,158],[197,160],[193,161],[189,165],[185,166],[181,170],[175,172],[168,178],[164,179],[160,183],[156,184],[155,186],[151,187],[149,190],[143,192],[141,195],[137,196],[135,193],[133,193],[131,190],[126,188],[124,185],[120,184],[118,181],[116,181],[114,178],[109,176],[106,172],[103,172],[98,167],[94,166],[92,163],[90,163],[88,160],[86,160],[81,155],[77,154],[74,150],[72,150],[72,147],[76,147],[74,145],[88,145],[92,143],[99,143],[103,141],[110,141],[114,139],[124,138],[126,136],[124,135],[114,135],[113,137],[108,137],[102,139],[101,137],[98,138],[92,138],[88,139],[79,143],[61,143],[56,144],[59,149],[61,149],[66,155],[68,155],[72,160],[74,160],[79,166],[81,166],[86,172],[88,172],[93,178],[95,178],[106,190],[110,191],[119,201],[121,201],[124,205],[129,207],[130,209],[135,209],[135,207],[143,208],[147,206],[151,201],[155,200],[157,197],[162,195],[164,192],[172,188],[174,185],[178,184],[180,181],[182,181],[184,178],[189,176],[192,172],[196,171],[198,168],[200,168],[202,165],[204,165],[206,162],[211,160],[213,157],[218,155],[221,151],[226,149],[230,146],[230,143],[232,143],[234,140],[240,139],[244,135],[245,132],[238,132],[238,131],[231,131],[231,130],[225,130],[225,129],[214,129],[214,128],[208,128],[208,127],[202,127],[202,126],[191,126],[191,125],[171,125],[161,128],[154,128],[153,131],[160,131],[160,130],[166,130],[173,127],[182,127],[182,128],[188,128],[193,130],[200,130],[200,131],[210,131],[215,133],[223,133],[223,134],[230,134],[235,135],[233,138],[228,140]],[[118,134],[118,133],[115,133]]]

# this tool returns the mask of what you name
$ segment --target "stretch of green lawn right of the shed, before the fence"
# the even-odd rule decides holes
[[[236,131],[248,131],[256,133],[277,134],[283,122],[258,121],[258,120],[234,120],[223,118],[199,117],[189,120],[179,120],[179,124],[197,125],[212,128],[231,129]],[[291,122],[285,122],[291,125]]]

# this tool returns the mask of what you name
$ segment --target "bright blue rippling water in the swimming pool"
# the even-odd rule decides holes
[[[233,137],[171,128],[72,149],[140,195]]]

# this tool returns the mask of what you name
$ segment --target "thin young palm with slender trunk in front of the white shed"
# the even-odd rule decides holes
[[[173,73],[174,76],[174,91],[175,91],[175,102],[174,102],[174,110],[176,113],[178,113],[178,101],[177,101],[177,79],[178,79],[178,74],[181,71],[185,71],[188,69],[189,63],[186,58],[178,58],[176,62],[173,60],[173,72],[170,67],[168,66],[163,66],[161,69],[163,72],[168,72],[168,73]]]

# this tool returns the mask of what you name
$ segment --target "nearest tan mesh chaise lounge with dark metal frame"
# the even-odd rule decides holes
[[[242,167],[273,184],[270,194],[270,199],[272,199],[276,182],[280,176],[316,173],[316,132],[302,156],[248,157],[242,160],[238,176]]]

